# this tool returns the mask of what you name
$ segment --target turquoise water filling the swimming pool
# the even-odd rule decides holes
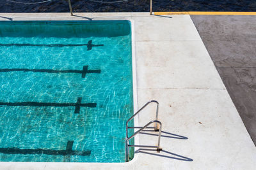
[[[0,22],[0,161],[125,162],[129,21]]]

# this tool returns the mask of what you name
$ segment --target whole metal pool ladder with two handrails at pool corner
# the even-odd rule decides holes
[[[141,110],[143,110],[146,106],[148,106],[148,104],[150,103],[156,103],[156,120],[152,120],[150,122],[148,122],[145,126],[143,127],[129,127],[128,123],[132,120],[132,118],[134,118],[136,115],[138,115],[138,113],[140,113]],[[160,152],[162,149],[160,148],[160,138],[161,138],[161,132],[162,132],[162,123],[158,120],[158,106],[159,103],[157,101],[148,101],[148,103],[146,103],[142,108],[140,108],[140,110],[138,110],[134,115],[132,115],[131,118],[129,118],[126,122],[126,138],[125,138],[125,161],[129,161],[129,147],[141,147],[141,148],[156,148],[157,152]],[[149,127],[149,125],[151,124],[155,124],[154,127]],[[159,128],[158,125],[159,124]],[[134,134],[132,134],[132,136],[128,136],[128,129],[139,129],[138,131],[134,132]],[[139,134],[141,131],[143,131],[144,129],[154,129],[154,131],[159,131],[158,134],[158,141],[157,141],[157,146],[151,146],[151,145],[129,145],[129,141],[134,138],[134,136],[136,136],[137,134]]]

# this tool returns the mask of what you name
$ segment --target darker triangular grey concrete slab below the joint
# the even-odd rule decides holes
[[[256,67],[218,67],[246,129],[256,141]]]

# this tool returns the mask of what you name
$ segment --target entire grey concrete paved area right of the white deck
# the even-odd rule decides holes
[[[256,17],[191,15],[256,145]]]

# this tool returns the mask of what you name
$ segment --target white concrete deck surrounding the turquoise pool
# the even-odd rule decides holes
[[[164,152],[136,153],[127,163],[1,162],[0,169],[255,169],[256,148],[189,15],[75,15],[0,13],[0,20],[133,20],[138,106],[159,101],[163,131],[173,135],[162,134]],[[145,110],[139,123],[153,118]],[[140,144],[156,143],[140,134]]]

